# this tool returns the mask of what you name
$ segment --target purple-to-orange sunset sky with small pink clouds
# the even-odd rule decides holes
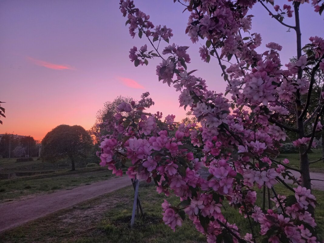
[[[191,46],[189,70],[198,69],[195,74],[203,77],[210,89],[224,92],[226,84],[216,61],[203,63],[198,53],[201,44],[192,44],[184,33],[189,14],[182,14],[183,6],[172,0],[134,3],[150,15],[154,25],[173,29],[170,44]],[[287,2],[275,3],[282,6]],[[251,14],[255,16],[251,33],[261,34],[261,48],[274,41],[283,46],[283,62],[296,55],[293,30],[287,32],[262,6],[255,6]],[[302,44],[310,36],[323,37],[323,17],[314,13],[310,4],[301,6],[301,19],[308,20],[301,22]],[[186,111],[179,108],[179,94],[158,82],[158,60],[137,68],[130,62],[130,48],[147,41],[132,39],[126,20],[119,0],[1,0],[0,101],[6,102],[2,104],[6,118],[0,133],[42,139],[60,124],[89,129],[106,101],[119,95],[139,99],[146,91],[155,101],[151,112],[182,119]],[[286,22],[293,24],[292,20]]]

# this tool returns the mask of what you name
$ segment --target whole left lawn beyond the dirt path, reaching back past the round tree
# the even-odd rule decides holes
[[[53,192],[109,179],[111,171],[92,163],[91,158],[77,161],[75,171],[70,171],[68,159],[56,163],[41,160],[16,162],[16,158],[0,159],[0,203],[35,193]],[[6,179],[4,179],[6,178]],[[10,179],[7,179],[10,178]]]

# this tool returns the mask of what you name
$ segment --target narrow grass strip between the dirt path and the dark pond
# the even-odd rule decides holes
[[[0,180],[0,202],[35,193],[70,189],[82,184],[89,184],[111,177],[111,171],[107,168],[97,166],[96,168],[81,168],[75,171],[62,170],[49,174]]]

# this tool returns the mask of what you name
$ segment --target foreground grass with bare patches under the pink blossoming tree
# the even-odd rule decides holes
[[[277,186],[279,194],[289,193]],[[35,220],[24,226],[0,234],[3,243],[28,242],[74,242],[74,243],[198,243],[206,238],[198,233],[190,220],[174,233],[162,222],[161,203],[165,196],[157,194],[155,186],[141,182],[140,197],[145,218],[136,220],[130,228],[133,204],[133,188],[127,187],[96,199],[81,203],[72,209],[62,210]],[[324,202],[324,192],[314,190],[318,202]],[[168,197],[176,205],[176,197]],[[260,202],[258,202],[260,203]],[[272,204],[272,206],[274,206]],[[247,219],[237,210],[226,206],[225,215],[229,222],[235,222],[242,233],[247,232]],[[316,220],[324,228],[324,206],[317,205]]]

